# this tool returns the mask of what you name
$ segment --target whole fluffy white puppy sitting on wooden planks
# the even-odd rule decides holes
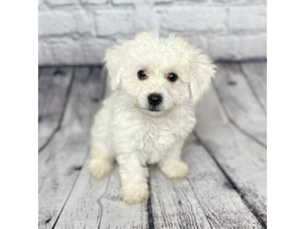
[[[102,178],[116,160],[121,197],[136,204],[149,195],[147,164],[167,178],[187,177],[181,149],[215,66],[183,39],[156,33],[110,48],[105,61],[113,92],[95,117],[89,170]]]

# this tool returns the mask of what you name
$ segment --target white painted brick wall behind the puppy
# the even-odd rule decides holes
[[[214,60],[266,58],[266,0],[39,0],[39,64],[100,64],[141,31],[175,33]]]

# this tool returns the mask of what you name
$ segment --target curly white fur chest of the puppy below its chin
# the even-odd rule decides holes
[[[194,111],[172,112],[149,118],[141,113],[119,112],[112,140],[117,153],[138,153],[143,162],[160,161],[177,142],[184,141],[195,124]]]

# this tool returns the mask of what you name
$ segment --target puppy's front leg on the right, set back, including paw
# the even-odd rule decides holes
[[[184,140],[179,140],[167,152],[166,156],[158,163],[162,173],[170,179],[186,178],[189,174],[189,166],[181,160],[181,149]]]

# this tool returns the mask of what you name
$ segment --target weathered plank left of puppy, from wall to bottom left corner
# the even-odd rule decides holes
[[[39,228],[52,228],[88,155],[92,118],[103,94],[99,68],[76,68],[61,129],[39,154]]]

